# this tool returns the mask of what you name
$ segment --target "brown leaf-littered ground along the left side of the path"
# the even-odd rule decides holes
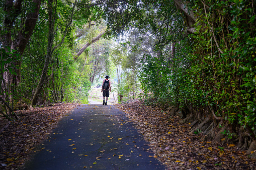
[[[0,169],[20,169],[36,145],[56,127],[59,119],[77,104],[61,103],[22,112],[0,133]],[[17,114],[19,115],[20,112]],[[0,118],[0,130],[8,121]]]

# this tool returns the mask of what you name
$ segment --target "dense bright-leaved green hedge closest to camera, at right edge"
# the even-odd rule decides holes
[[[230,124],[254,131],[256,23],[252,2],[194,3],[197,7],[193,8],[202,15],[189,54],[190,79],[201,94],[198,104],[209,105]]]

